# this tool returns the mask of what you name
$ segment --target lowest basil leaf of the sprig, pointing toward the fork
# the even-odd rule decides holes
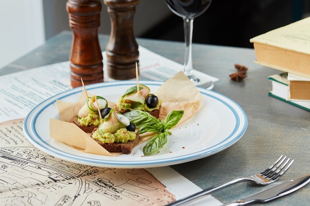
[[[159,133],[153,136],[143,147],[144,155],[152,155],[156,153],[164,144],[167,143],[167,133]]]

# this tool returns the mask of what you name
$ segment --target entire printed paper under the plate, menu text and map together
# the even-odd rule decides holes
[[[140,46],[139,80],[169,79],[183,66]],[[105,53],[103,52],[103,57]],[[105,65],[106,59],[103,59]],[[103,68],[106,71],[106,68]],[[201,78],[218,79],[199,73]],[[169,166],[106,168],[64,161],[33,146],[23,120],[40,102],[71,89],[69,62],[0,76],[0,200],[4,205],[164,206],[201,188]],[[112,82],[104,72],[104,81]],[[219,206],[207,196],[190,205]],[[189,206],[190,206],[189,205]]]

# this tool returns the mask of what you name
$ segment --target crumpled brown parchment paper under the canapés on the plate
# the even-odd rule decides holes
[[[177,73],[175,76],[164,82],[154,94],[161,99],[160,119],[164,120],[166,115],[172,110],[183,110],[184,115],[177,125],[180,125],[190,119],[200,107],[202,101],[202,94],[196,88],[183,72]],[[88,96],[93,94],[88,93]],[[60,121],[50,121],[50,135],[51,138],[64,142],[68,145],[80,148],[84,152],[117,156],[119,153],[109,153],[101,147],[95,140],[90,137],[90,134],[85,133],[75,124],[71,123],[73,118],[77,115],[78,111],[85,104],[86,94],[81,93],[78,102],[64,102],[57,100],[57,108],[59,112]],[[108,100],[107,100],[108,101]],[[108,107],[114,108],[116,104],[108,101]],[[64,124],[61,122],[65,122]],[[68,126],[72,124],[72,126]],[[59,129],[59,126],[63,128]],[[57,128],[58,127],[58,128]],[[79,131],[75,131],[79,130]],[[146,133],[142,135],[141,142],[150,139],[154,133]],[[78,138],[80,138],[78,140]],[[92,141],[93,140],[93,141]],[[71,143],[70,143],[71,142]],[[75,142],[74,144],[72,142]],[[140,143],[141,143],[140,142]],[[96,143],[98,146],[94,146]]]

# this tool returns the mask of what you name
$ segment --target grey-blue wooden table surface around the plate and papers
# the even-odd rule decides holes
[[[105,50],[108,38],[99,35],[102,50]],[[155,53],[183,63],[182,42],[139,38],[137,42]],[[68,61],[71,44],[71,31],[64,31],[0,69],[0,75]],[[267,77],[280,72],[254,63],[255,58],[255,51],[251,48],[193,45],[194,68],[217,77],[219,81],[215,82],[213,91],[235,101],[248,117],[245,134],[231,147],[207,158],[171,166],[203,189],[233,177],[260,172],[282,154],[295,159],[295,162],[274,185],[310,173],[310,112],[268,96],[271,82]],[[229,78],[229,74],[236,72],[235,63],[249,68],[243,82],[233,82]],[[213,196],[227,203],[270,186],[243,182],[215,192]],[[266,205],[310,205],[310,185]]]

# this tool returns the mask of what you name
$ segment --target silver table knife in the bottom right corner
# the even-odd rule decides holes
[[[237,201],[233,201],[233,202],[228,203],[224,206],[244,206],[244,205],[248,205],[248,204],[254,203],[254,202],[265,203],[265,202],[268,202],[270,200],[280,198],[284,195],[288,195],[288,194],[304,187],[309,182],[310,182],[310,174],[308,174],[304,177],[298,178],[296,180],[289,180],[287,182],[284,182],[282,184],[271,187],[269,189],[266,189],[262,192],[254,194],[252,196],[249,196],[247,198],[237,200]]]

